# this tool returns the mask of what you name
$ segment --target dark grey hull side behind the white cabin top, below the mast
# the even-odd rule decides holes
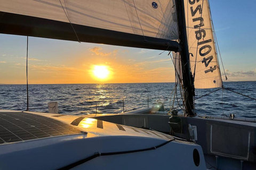
[[[115,122],[135,127],[144,126],[164,133],[171,131],[169,117],[171,115],[144,114],[127,112],[126,114],[97,117],[100,120]],[[188,124],[197,127],[196,143],[204,152],[205,164],[208,169],[256,169],[256,123],[235,120],[222,120],[207,116],[183,117],[182,132],[174,133],[185,139],[191,139]],[[221,118],[221,117],[220,117]],[[239,120],[245,120],[239,118]],[[252,120],[251,120],[252,121]]]

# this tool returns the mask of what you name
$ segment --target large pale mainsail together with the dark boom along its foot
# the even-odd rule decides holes
[[[0,33],[179,49],[172,0],[2,0],[0,24]]]

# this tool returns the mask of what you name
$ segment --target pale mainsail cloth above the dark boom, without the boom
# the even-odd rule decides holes
[[[1,12],[131,33],[145,42],[178,39],[175,10],[172,0],[2,0],[0,5]]]

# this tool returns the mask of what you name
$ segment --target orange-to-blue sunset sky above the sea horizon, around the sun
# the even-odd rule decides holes
[[[256,2],[210,4],[228,80],[256,81]],[[0,46],[0,84],[25,84],[27,37],[0,34]],[[35,37],[28,48],[30,84],[174,82],[171,58],[162,50]],[[107,79],[95,78],[95,65],[108,68]]]

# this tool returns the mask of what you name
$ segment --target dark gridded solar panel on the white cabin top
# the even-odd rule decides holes
[[[0,144],[79,133],[81,130],[49,117],[23,112],[0,113]]]

